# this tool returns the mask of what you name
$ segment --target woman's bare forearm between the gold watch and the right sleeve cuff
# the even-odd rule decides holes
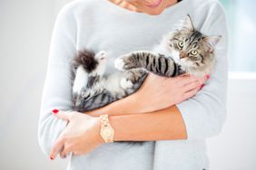
[[[144,114],[110,116],[114,141],[154,141],[186,139],[181,112],[174,105]]]

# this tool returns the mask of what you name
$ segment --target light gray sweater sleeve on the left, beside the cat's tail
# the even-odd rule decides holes
[[[38,121],[38,142],[49,156],[54,141],[66,126],[66,120],[55,118],[53,109],[72,109],[72,83],[69,60],[75,51],[75,20],[71,5],[64,5],[54,24],[50,44],[44,90]]]

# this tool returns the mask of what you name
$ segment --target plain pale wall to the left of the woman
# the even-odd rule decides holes
[[[0,169],[64,169],[37,143],[53,0],[0,0]],[[57,163],[56,163],[57,162]]]

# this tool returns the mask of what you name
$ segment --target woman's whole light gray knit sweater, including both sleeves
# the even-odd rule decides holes
[[[54,140],[66,122],[51,110],[72,109],[71,72],[68,61],[83,48],[109,53],[107,70],[126,52],[151,50],[163,33],[186,14],[207,35],[222,35],[217,45],[217,67],[196,96],[177,104],[188,139],[150,141],[143,146],[104,144],[84,156],[72,156],[68,170],[202,170],[209,168],[205,139],[220,133],[226,115],[227,26],[217,0],[182,0],[162,14],[136,13],[108,0],[75,0],[60,11],[54,25],[38,122],[38,141],[49,156]],[[170,96],[172,98],[172,96]],[[170,122],[171,123],[171,122]],[[221,154],[221,151],[220,151]]]

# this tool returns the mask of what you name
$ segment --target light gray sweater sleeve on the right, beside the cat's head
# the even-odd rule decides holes
[[[217,64],[211,78],[192,99],[177,104],[187,130],[188,139],[213,137],[221,132],[226,116],[228,80],[228,34],[225,14],[218,3],[213,5],[202,24],[202,33],[222,35],[215,48]]]

